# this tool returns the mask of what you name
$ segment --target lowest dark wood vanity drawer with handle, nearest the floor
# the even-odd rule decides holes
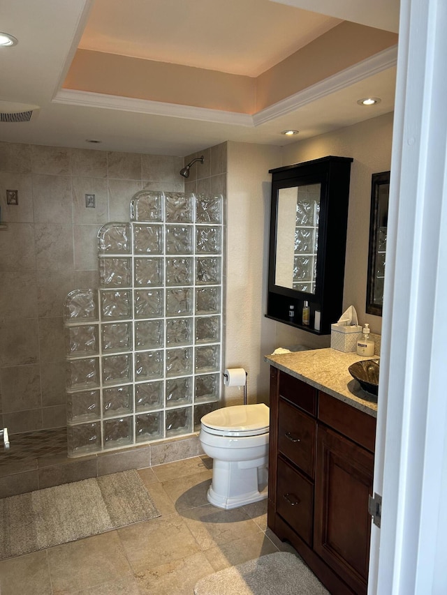
[[[278,459],[277,512],[312,547],[314,485]]]

